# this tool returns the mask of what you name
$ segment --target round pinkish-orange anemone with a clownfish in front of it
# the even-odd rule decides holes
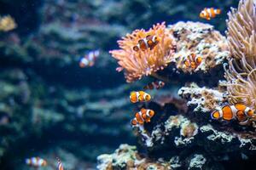
[[[137,42],[148,35],[159,37],[160,42],[152,50],[148,48],[145,51],[134,51],[133,47],[137,45]],[[118,60],[117,71],[125,69],[127,82],[136,81],[143,76],[152,75],[154,72],[164,69],[170,63],[174,53],[173,37],[166,29],[164,22],[153,26],[148,31],[143,29],[133,31],[118,43],[121,49],[112,50],[109,53]]]

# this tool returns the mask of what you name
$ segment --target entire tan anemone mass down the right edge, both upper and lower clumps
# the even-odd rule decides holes
[[[225,83],[231,104],[256,109],[256,1],[241,0],[229,13],[228,41],[231,58]]]

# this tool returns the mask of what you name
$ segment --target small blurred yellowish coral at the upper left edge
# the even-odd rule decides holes
[[[9,16],[0,16],[0,31],[11,31],[17,27],[15,20]]]

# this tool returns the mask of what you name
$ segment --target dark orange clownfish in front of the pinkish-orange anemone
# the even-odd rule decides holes
[[[141,49],[144,51],[148,48],[150,48],[151,50],[158,44],[158,42],[160,42],[160,39],[158,37],[148,35],[147,37],[140,39],[137,42],[137,45],[133,47],[133,50],[139,51]]]

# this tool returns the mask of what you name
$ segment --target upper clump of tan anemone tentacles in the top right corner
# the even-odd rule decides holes
[[[230,53],[235,59],[255,67],[256,55],[256,2],[241,0],[238,9],[231,8],[227,20]],[[245,63],[246,64],[246,63]]]

